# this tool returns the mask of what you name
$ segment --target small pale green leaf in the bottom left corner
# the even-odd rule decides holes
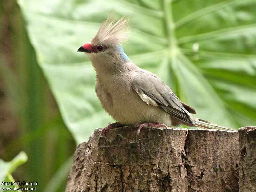
[[[2,191],[2,188],[13,188],[18,187],[18,185],[1,185],[2,182],[15,182],[15,180],[12,177],[12,172],[15,171],[15,169],[24,164],[28,160],[28,157],[25,152],[21,151],[12,161],[10,162],[4,162],[2,159],[0,159],[0,191]],[[13,191],[13,190],[8,190]],[[14,190],[19,191],[20,190]]]

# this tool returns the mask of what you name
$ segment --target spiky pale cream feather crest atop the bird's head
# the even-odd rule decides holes
[[[107,20],[102,23],[96,36],[92,39],[92,44],[108,44],[114,46],[127,40],[130,31],[130,19],[122,17],[116,22],[108,16]]]

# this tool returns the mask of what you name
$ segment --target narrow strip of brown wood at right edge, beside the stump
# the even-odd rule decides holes
[[[239,133],[239,191],[256,192],[256,127],[242,127]]]

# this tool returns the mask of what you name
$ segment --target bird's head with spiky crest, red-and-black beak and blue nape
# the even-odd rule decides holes
[[[114,22],[108,17],[92,41],[82,45],[77,51],[86,52],[90,59],[115,57],[118,54],[124,57],[120,43],[127,39],[130,28],[129,19],[122,17]]]

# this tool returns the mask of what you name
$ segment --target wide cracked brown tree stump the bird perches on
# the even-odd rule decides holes
[[[66,192],[238,192],[238,133],[120,127],[80,144]]]

